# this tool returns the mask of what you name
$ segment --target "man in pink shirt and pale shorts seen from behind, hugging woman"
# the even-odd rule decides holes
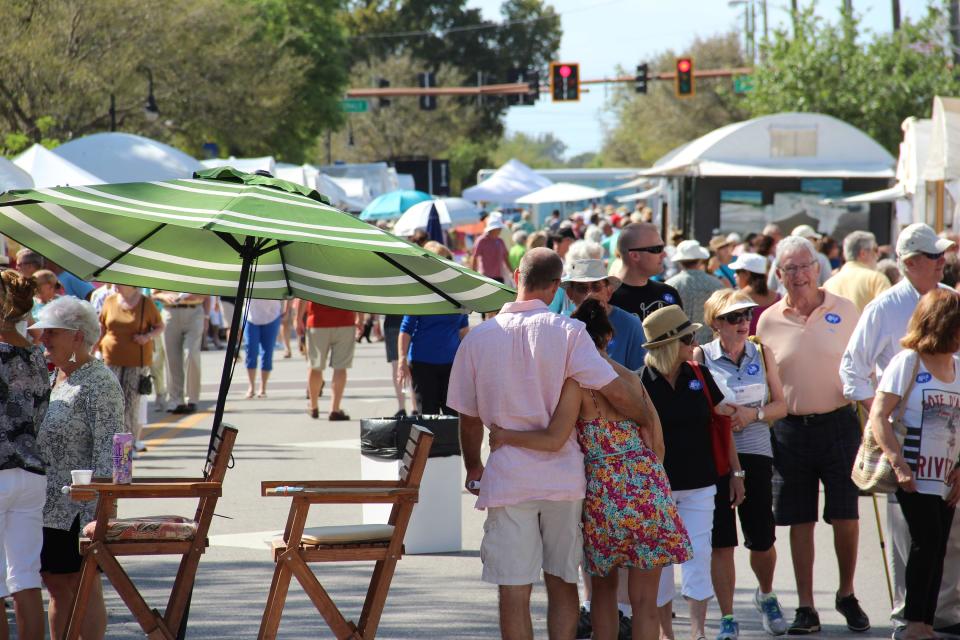
[[[552,313],[563,262],[532,249],[514,273],[517,301],[466,335],[450,375],[447,404],[460,413],[467,488],[487,510],[480,557],[483,580],[500,591],[500,632],[533,638],[530,593],[543,570],[547,629],[572,640],[577,626],[580,517],[586,481],[573,434],[557,452],[505,446],[480,459],[484,424],[544,429],[567,378],[601,393],[625,415],[641,415],[642,398],[597,352],[583,323]],[[480,489],[471,489],[480,481]]]

